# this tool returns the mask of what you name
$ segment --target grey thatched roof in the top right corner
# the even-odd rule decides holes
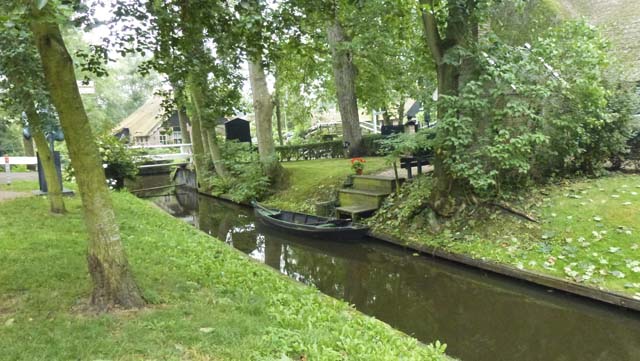
[[[585,16],[601,27],[630,81],[640,81],[640,1],[557,0],[571,17]]]

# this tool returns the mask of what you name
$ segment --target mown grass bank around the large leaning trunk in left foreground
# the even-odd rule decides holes
[[[437,360],[415,339],[298,284],[170,217],[113,193],[149,306],[87,315],[79,198],[0,203],[0,358],[7,360]]]

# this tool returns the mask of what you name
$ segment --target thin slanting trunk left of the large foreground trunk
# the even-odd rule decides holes
[[[62,198],[61,180],[58,177],[58,172],[56,171],[53,152],[49,148],[47,139],[42,131],[43,124],[40,119],[40,114],[38,114],[32,100],[25,99],[23,103],[27,119],[29,120],[29,125],[31,126],[31,134],[38,149],[38,158],[42,165],[44,178],[47,182],[47,196],[49,198],[51,213],[65,213],[66,209],[64,207],[64,199]]]

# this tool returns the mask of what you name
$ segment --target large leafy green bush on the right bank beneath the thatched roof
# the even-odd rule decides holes
[[[491,196],[531,180],[595,174],[624,147],[630,109],[607,81],[608,44],[584,22],[549,29],[531,45],[488,36],[479,77],[441,96],[435,149],[447,172]]]

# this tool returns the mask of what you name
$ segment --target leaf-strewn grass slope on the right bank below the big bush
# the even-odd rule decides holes
[[[410,187],[399,202],[387,205],[372,220],[376,231],[640,299],[638,175],[617,174],[532,191],[515,208],[533,214],[539,224],[500,210],[480,211],[435,235],[426,231],[425,217],[403,223],[406,210],[397,205],[411,202],[410,194],[416,191]]]

